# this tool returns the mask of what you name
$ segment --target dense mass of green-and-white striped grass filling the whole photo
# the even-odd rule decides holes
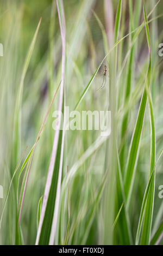
[[[52,2],[36,29],[26,5],[3,3],[0,242],[162,244],[162,3]],[[104,62],[109,80],[97,91]],[[111,134],[54,131],[52,111],[66,125],[65,106],[111,110]]]

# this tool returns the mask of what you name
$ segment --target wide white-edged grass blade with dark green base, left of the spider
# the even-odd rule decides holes
[[[57,1],[59,25],[62,39],[62,71],[61,91],[58,110],[64,115],[65,111],[65,16],[62,0]],[[48,176],[43,196],[43,204],[39,228],[37,230],[36,245],[54,245],[58,211],[60,203],[60,187],[62,177],[62,164],[64,154],[64,124],[61,128],[61,116],[59,128],[55,131],[51,162],[49,164]],[[61,128],[61,129],[60,129]]]

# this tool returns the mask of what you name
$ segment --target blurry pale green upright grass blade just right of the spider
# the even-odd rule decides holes
[[[122,1],[118,2],[116,18],[115,18],[115,28],[114,28],[114,43],[118,40],[120,34],[120,24],[121,24],[121,13],[122,13]],[[104,168],[108,169],[108,177],[106,179],[106,187],[104,190],[103,199],[103,211],[104,211],[104,233],[103,233],[103,243],[104,245],[112,245],[114,241],[114,232],[112,232],[112,226],[115,221],[115,199],[116,199],[116,174],[117,174],[117,163],[116,163],[116,107],[117,107],[117,93],[116,93],[116,73],[117,73],[117,53],[118,47],[113,47],[110,57],[110,95],[108,98],[108,107],[111,111],[111,134],[108,141],[106,141],[106,148],[109,149],[105,151],[105,163]],[[122,204],[122,202],[121,202]]]

